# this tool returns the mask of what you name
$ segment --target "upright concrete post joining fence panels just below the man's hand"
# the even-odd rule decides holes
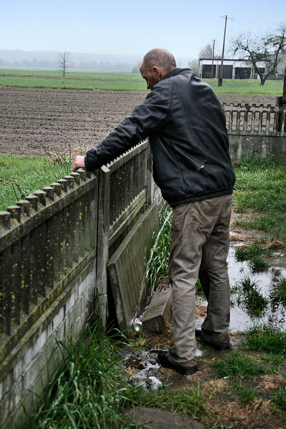
[[[107,263],[110,223],[110,170],[102,166],[98,178],[98,231],[96,289],[103,329],[107,324]]]

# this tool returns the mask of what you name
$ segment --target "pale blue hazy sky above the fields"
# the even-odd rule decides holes
[[[196,58],[212,44],[286,20],[286,0],[2,0],[0,49],[136,54],[164,47]]]

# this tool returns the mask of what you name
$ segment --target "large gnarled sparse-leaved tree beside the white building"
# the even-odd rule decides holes
[[[241,59],[250,63],[254,72],[260,77],[260,84],[264,85],[266,79],[277,72],[277,65],[281,54],[286,52],[286,23],[282,23],[273,34],[253,36],[240,34],[232,42],[233,52],[240,54]],[[261,63],[265,63],[263,70]]]

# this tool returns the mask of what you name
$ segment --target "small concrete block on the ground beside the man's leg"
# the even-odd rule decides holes
[[[147,332],[160,334],[166,323],[172,320],[172,288],[156,290],[150,304],[144,313],[142,320],[143,328]]]

